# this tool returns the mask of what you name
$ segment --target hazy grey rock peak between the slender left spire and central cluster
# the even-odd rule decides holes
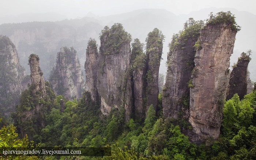
[[[85,82],[73,47],[61,47],[49,81],[57,95],[64,95],[70,100],[82,96]]]

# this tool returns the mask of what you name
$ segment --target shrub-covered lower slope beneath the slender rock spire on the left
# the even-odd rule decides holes
[[[17,129],[22,135],[28,134],[30,140],[38,142],[37,134],[44,127],[46,117],[53,106],[55,106],[55,94],[50,88],[49,82],[45,82],[46,95],[42,98],[42,93],[34,93],[35,86],[30,85],[29,89],[22,92],[20,104],[16,107],[16,113],[12,114]],[[31,117],[25,118],[31,114]]]

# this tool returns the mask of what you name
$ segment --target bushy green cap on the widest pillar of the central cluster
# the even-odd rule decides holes
[[[106,38],[106,41],[104,40]],[[118,54],[124,43],[130,43],[131,34],[124,30],[121,23],[115,23],[111,28],[105,26],[100,35],[105,52],[103,54]]]

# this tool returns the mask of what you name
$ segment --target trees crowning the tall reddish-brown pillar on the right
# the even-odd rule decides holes
[[[218,12],[217,15],[213,15],[212,12],[209,15],[209,19],[207,19],[208,24],[219,24],[219,23],[226,23],[231,25],[231,29],[235,31],[240,31],[241,27],[236,23],[236,17],[230,12]]]

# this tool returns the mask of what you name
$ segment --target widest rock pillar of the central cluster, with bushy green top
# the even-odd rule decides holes
[[[131,35],[120,23],[105,27],[101,33],[97,89],[101,112],[108,115],[113,107],[124,103],[128,69],[131,61]],[[130,108],[127,108],[129,114]]]

